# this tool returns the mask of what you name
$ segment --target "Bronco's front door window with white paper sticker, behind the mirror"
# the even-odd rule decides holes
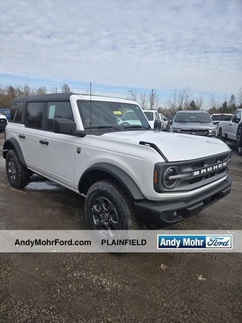
[[[48,102],[46,129],[53,129],[53,119],[69,119],[74,121],[70,102]]]

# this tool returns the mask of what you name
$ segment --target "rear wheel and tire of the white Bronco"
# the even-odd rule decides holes
[[[11,176],[11,167],[15,168],[15,176]],[[20,164],[19,158],[14,150],[9,150],[6,156],[6,172],[10,184],[15,188],[24,188],[29,184],[30,171]],[[15,177],[15,179],[14,179]]]

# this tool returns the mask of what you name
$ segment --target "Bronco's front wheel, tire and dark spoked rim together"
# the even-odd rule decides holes
[[[102,180],[88,190],[85,201],[86,219],[91,230],[139,230],[142,224],[132,200],[115,180]]]

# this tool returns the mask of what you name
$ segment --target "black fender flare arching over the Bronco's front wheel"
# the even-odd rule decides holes
[[[129,196],[135,200],[145,199],[141,190],[134,180],[122,169],[108,163],[97,163],[89,167],[81,176],[78,184],[78,190],[82,192],[83,179],[93,171],[102,171],[115,178],[126,190]]]

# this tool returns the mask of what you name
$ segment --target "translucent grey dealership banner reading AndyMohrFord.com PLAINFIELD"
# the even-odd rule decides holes
[[[0,252],[242,252],[242,231],[0,230]]]

